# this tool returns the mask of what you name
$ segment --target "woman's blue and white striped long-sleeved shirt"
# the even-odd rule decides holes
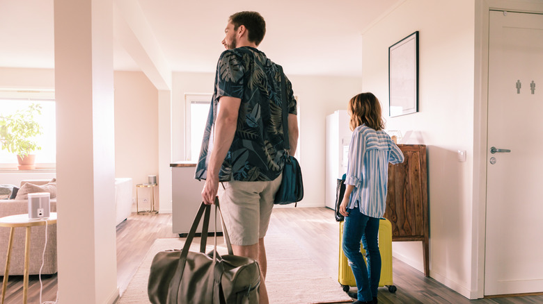
[[[386,208],[388,162],[403,161],[404,154],[384,130],[376,131],[365,124],[356,127],[345,178],[345,185],[354,185],[347,208],[359,207],[368,217],[382,217]]]

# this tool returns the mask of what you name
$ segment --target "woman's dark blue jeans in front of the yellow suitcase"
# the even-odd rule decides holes
[[[343,223],[343,252],[356,280],[359,301],[372,301],[377,298],[381,278],[381,253],[377,239],[379,219],[362,214],[358,208],[348,211],[349,216]],[[360,242],[368,260],[367,268],[360,252]]]

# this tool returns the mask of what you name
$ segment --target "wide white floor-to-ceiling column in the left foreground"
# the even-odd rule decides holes
[[[54,36],[58,297],[114,303],[113,0],[54,0]]]

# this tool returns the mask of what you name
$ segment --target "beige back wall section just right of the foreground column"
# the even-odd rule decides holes
[[[158,90],[141,71],[116,71],[113,76],[115,176],[132,178],[135,199],[136,184],[147,183],[149,175],[159,175]],[[139,203],[149,199],[145,190],[138,193]],[[158,203],[157,199],[156,208]]]

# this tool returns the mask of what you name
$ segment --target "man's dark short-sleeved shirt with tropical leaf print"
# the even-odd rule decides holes
[[[239,47],[221,54],[196,165],[196,179],[207,178],[221,96],[231,96],[242,101],[234,140],[219,171],[219,181],[267,181],[281,174],[285,155],[281,77],[278,65],[258,49]],[[288,78],[286,90],[288,112],[297,115],[297,103]]]

